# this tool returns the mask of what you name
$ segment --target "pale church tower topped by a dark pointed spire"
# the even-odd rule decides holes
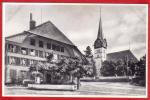
[[[101,12],[100,12],[101,13]],[[100,77],[100,68],[102,62],[106,60],[107,41],[103,38],[102,20],[100,14],[97,39],[94,42],[94,61],[96,69],[96,78]]]

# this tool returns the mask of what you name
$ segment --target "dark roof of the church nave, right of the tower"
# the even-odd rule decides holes
[[[133,55],[133,53],[130,50],[124,50],[107,54],[108,61],[116,62],[118,60],[124,60],[125,57],[128,57],[129,60],[132,60],[134,62],[138,62],[138,59]]]

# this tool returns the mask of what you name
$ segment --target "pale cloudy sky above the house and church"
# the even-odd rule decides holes
[[[130,49],[138,59],[146,54],[146,5],[5,3],[3,7],[4,37],[28,30],[32,13],[36,25],[51,21],[82,53],[87,46],[94,52],[101,11],[108,53]]]

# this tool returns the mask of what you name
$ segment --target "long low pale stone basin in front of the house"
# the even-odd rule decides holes
[[[55,85],[55,84],[28,84],[29,89],[37,90],[77,90],[77,85],[67,84],[67,85]]]

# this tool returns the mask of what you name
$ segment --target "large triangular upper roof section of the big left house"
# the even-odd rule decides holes
[[[47,21],[34,29],[29,30],[32,34],[46,37],[52,40],[60,41],[66,44],[74,45],[52,22]]]

